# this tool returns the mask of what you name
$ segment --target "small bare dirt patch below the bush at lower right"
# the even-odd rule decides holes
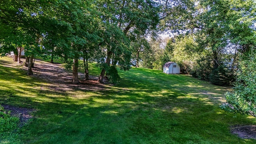
[[[232,134],[238,135],[240,138],[250,139],[253,138],[256,140],[256,125],[251,126],[232,126]]]

